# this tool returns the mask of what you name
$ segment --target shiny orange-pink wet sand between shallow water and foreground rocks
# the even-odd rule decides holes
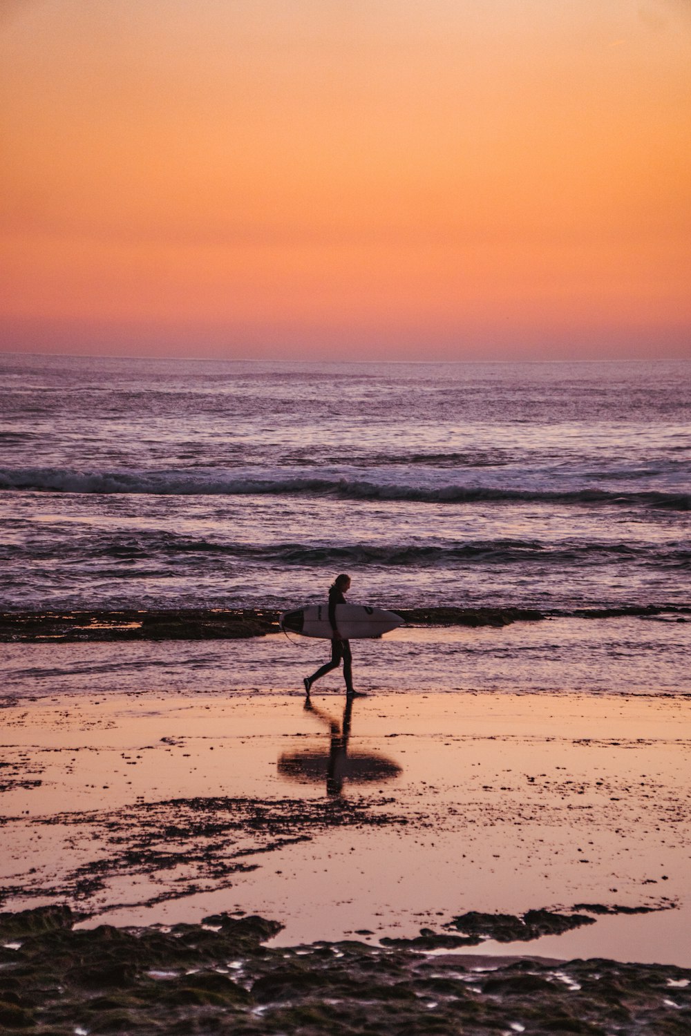
[[[400,940],[425,929],[428,953],[453,937],[464,954],[691,966],[683,696],[405,692],[346,716],[340,694],[306,710],[284,689],[5,704],[5,912],[66,903],[93,928],[246,911],[283,925],[276,947],[412,952]],[[474,945],[454,920],[538,910],[586,920]]]

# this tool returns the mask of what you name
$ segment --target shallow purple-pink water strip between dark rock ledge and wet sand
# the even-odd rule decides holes
[[[691,622],[675,617],[550,618],[478,629],[403,627],[351,642],[355,686],[400,691],[691,693]],[[328,658],[321,640],[270,634],[250,640],[3,644],[4,693],[24,698],[142,688],[165,693],[303,692]],[[343,692],[341,670],[314,685]]]

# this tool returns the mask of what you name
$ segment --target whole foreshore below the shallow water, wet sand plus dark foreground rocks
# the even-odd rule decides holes
[[[1,715],[10,1030],[321,1033],[326,1004],[343,1032],[688,1025],[683,695],[62,692]],[[613,1004],[629,1028],[600,1027]]]

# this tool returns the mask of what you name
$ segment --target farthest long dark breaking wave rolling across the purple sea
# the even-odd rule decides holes
[[[0,489],[58,493],[137,493],[154,495],[313,495],[359,500],[412,500],[465,503],[481,500],[560,503],[643,505],[691,510],[691,493],[663,490],[515,489],[513,487],[447,484],[411,486],[345,478],[276,474],[238,476],[231,471],[79,471],[61,468],[0,468]]]

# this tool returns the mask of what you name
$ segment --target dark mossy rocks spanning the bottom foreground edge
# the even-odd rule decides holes
[[[457,920],[476,933],[445,938],[478,942],[480,929],[496,936],[497,927],[553,930],[575,917],[468,914]],[[276,922],[218,914],[205,923],[218,930],[38,925],[0,971],[0,1027],[39,1023],[41,1036],[74,1036],[78,1027],[133,1036],[489,1036],[516,1021],[536,1036],[691,1031],[691,985],[681,982],[691,971],[682,968],[487,956],[470,963],[430,957],[413,941],[269,947],[262,941],[279,930]],[[26,918],[19,924],[26,928]],[[444,938],[427,931],[419,939]],[[240,968],[229,974],[231,960]]]

